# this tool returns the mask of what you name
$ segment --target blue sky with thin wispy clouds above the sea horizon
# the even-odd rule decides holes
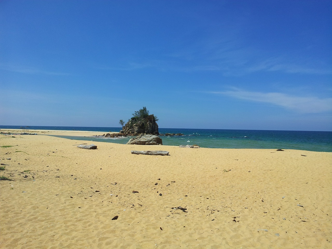
[[[0,1],[0,124],[332,130],[332,1]]]

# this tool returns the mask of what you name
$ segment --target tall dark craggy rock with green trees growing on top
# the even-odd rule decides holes
[[[141,120],[131,118],[128,123],[124,125],[123,130],[121,130],[120,133],[133,136],[142,133],[159,135],[158,124],[156,123],[153,114]]]

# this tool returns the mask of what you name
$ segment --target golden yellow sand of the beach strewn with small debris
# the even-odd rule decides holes
[[[0,248],[332,248],[332,153],[86,142],[0,135]]]

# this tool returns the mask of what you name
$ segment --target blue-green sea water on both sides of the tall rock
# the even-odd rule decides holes
[[[120,127],[31,126],[26,129],[87,130],[119,132]],[[20,126],[0,125],[0,129],[19,129]],[[294,130],[230,130],[159,128],[159,133],[182,133],[184,136],[160,136],[164,145],[197,144],[205,148],[298,149],[332,152],[332,131]],[[98,138],[60,136],[69,139],[126,143],[126,138]]]

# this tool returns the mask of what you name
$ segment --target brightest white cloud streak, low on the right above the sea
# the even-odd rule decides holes
[[[300,113],[325,113],[332,111],[332,98],[320,99],[317,97],[297,97],[284,93],[261,93],[243,90],[210,93],[228,95],[236,99],[269,103]]]

